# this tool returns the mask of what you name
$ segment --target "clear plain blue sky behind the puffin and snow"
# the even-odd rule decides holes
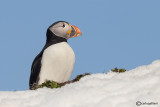
[[[159,0],[1,0],[0,90],[28,90],[46,30],[64,20],[82,36],[68,40],[78,74],[131,70],[160,58]]]

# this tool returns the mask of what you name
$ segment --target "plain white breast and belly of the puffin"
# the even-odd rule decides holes
[[[71,77],[75,54],[67,42],[57,43],[45,49],[41,63],[38,84],[42,84],[46,80],[62,83]]]

